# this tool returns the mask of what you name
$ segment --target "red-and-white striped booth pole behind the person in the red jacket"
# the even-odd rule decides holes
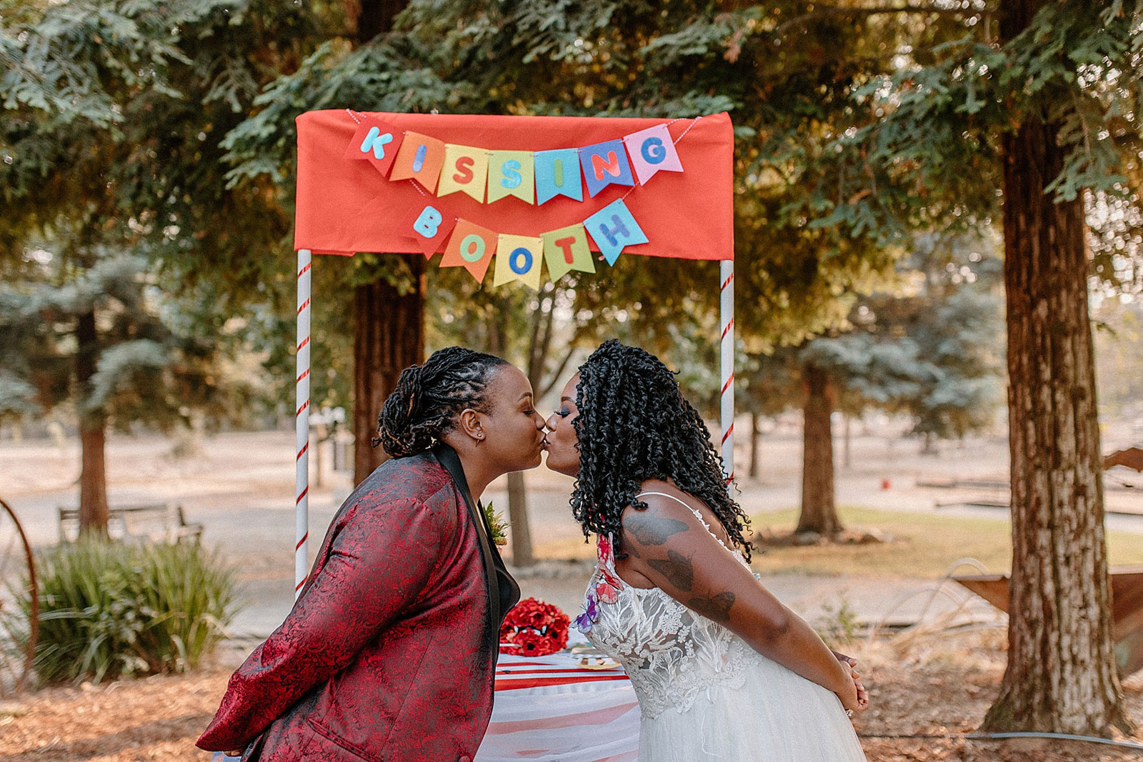
[[[297,250],[297,415],[294,441],[297,473],[294,480],[297,496],[294,513],[294,597],[297,599],[310,571],[310,264],[309,249]]]

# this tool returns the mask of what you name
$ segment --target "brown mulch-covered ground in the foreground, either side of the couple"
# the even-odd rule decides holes
[[[1138,752],[1093,744],[966,739],[997,695],[1004,643],[1002,629],[993,627],[853,644],[871,697],[871,708],[855,720],[866,756],[880,762],[1138,759]],[[0,762],[205,762],[209,756],[194,748],[194,738],[217,708],[227,676],[216,664],[190,675],[55,688],[9,701],[0,706]],[[1128,680],[1125,690],[1130,712],[1143,719],[1143,679]]]

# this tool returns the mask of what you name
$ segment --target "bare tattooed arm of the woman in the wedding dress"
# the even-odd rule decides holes
[[[647,496],[645,510],[623,512],[623,551],[629,553],[624,570],[646,577],[762,656],[833,691],[847,709],[864,708],[848,667],[690,511],[658,496]]]

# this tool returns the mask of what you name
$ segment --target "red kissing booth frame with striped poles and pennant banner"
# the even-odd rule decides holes
[[[440,254],[439,266],[464,267],[486,287],[530,289],[621,256],[720,260],[721,452],[730,480],[733,176],[726,113],[298,117],[295,592],[307,573],[312,255]]]

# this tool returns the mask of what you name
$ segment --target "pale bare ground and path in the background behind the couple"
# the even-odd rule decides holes
[[[293,601],[294,548],[294,439],[291,432],[230,433],[207,440],[200,455],[171,459],[170,443],[158,436],[112,436],[107,447],[109,497],[113,505],[155,502],[179,503],[187,519],[202,522],[203,539],[218,547],[241,568],[248,605],[234,623],[243,637],[264,637],[289,611]],[[798,504],[800,440],[793,434],[762,440],[760,479],[745,479],[746,451],[740,450],[740,503],[750,514],[789,508]],[[1002,481],[1007,472],[1007,446],[1000,440],[976,440],[946,446],[940,458],[920,456],[917,443],[876,436],[856,438],[853,467],[839,465],[838,503],[887,511],[932,512],[945,515],[1002,518],[1002,508],[938,503],[997,497],[1000,490],[918,487],[934,480],[984,479]],[[840,447],[838,459],[841,460]],[[312,463],[312,462],[311,462]],[[312,467],[312,466],[311,466]],[[328,457],[327,457],[328,467]],[[1143,479],[1134,472],[1109,475],[1109,528],[1143,534]],[[34,545],[57,538],[56,506],[74,505],[78,446],[56,448],[42,441],[21,444],[0,442],[0,497],[7,499]],[[326,472],[322,486],[311,489],[311,554],[341,502],[349,495],[345,474]],[[545,468],[527,472],[529,524],[537,547],[569,547],[582,537],[570,516],[572,480]],[[888,482],[886,484],[886,482]],[[1124,483],[1136,487],[1124,487]],[[507,498],[503,480],[486,494],[501,511]],[[523,595],[578,610],[586,585],[586,567],[552,568],[521,572]],[[559,564],[555,564],[559,567]],[[565,564],[567,567],[567,564]],[[925,579],[868,579],[772,575],[764,581],[791,608],[813,623],[836,621],[845,605],[862,621],[916,619],[925,612],[932,583]],[[958,604],[941,593],[926,616]]]

